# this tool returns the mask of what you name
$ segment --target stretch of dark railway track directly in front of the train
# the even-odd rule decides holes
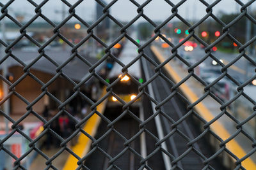
[[[146,105],[148,105],[148,103]],[[143,108],[136,108],[132,110],[132,112],[143,119],[144,117],[150,117],[150,112],[147,109],[148,106],[145,106]],[[147,111],[147,113],[144,114],[144,111]],[[113,113],[122,113],[122,108],[107,108],[104,116],[112,121],[116,118]],[[108,124],[104,121],[100,123],[95,139],[99,139],[108,131],[107,126]],[[113,128],[114,129],[112,129],[108,136],[98,144],[99,148],[104,150],[109,156],[106,156],[106,153],[95,150],[84,162],[84,166],[87,167],[86,169],[140,169],[142,165],[140,162],[141,157],[145,158],[149,153],[154,152],[156,142],[153,142],[148,134],[141,134],[141,136],[134,139],[134,141],[129,144],[129,147],[138,152],[141,157],[138,157],[129,150],[118,157],[117,155],[125,150],[125,139],[131,139],[139,131],[139,123],[131,117],[124,117],[118,120],[118,122],[113,125]],[[157,135],[154,122],[148,124],[148,129],[153,134]],[[120,137],[118,133],[122,134],[125,139]],[[117,159],[115,159],[116,156],[118,157]],[[150,157],[147,161],[148,167],[152,169],[158,169],[157,167],[164,169],[163,160],[159,157],[161,157],[159,153]],[[112,159],[115,160],[113,161]]]

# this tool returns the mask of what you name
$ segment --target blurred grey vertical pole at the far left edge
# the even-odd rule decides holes
[[[1,20],[1,32],[2,32],[2,40],[6,42],[6,35],[5,35],[5,23],[4,18]],[[4,52],[4,45],[1,46],[1,57],[4,57],[6,53]],[[5,63],[2,66],[2,75],[3,77],[6,77],[8,74],[8,59],[5,60]],[[8,85],[3,81],[3,98],[6,97],[8,94]],[[10,99],[6,100],[3,104],[3,110],[6,115],[10,115]],[[5,120],[5,133],[9,133],[9,120],[7,118],[4,118]]]

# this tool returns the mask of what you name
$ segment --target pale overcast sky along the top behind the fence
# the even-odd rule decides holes
[[[35,3],[41,3],[43,0],[34,0]],[[214,0],[205,0],[208,3],[214,2]],[[1,0],[3,4],[8,2],[8,0]],[[68,0],[69,3],[74,4],[76,0]],[[106,0],[106,3],[111,2],[111,0]],[[142,4],[145,0],[137,0],[138,3]],[[179,3],[179,0],[172,0],[174,4]],[[243,1],[246,2],[246,1]],[[60,0],[49,0],[42,8],[42,13],[47,17],[51,18],[51,20],[60,20],[61,13],[56,11],[61,11]],[[79,4],[76,8],[76,13],[83,18],[84,20],[92,20],[95,18],[95,1],[94,0],[84,0],[83,3]],[[255,3],[253,6],[256,6]],[[35,7],[28,3],[26,0],[15,0],[13,4],[11,4],[12,10],[10,13],[14,15],[14,13],[26,13],[26,20],[31,18],[31,16],[35,15]],[[186,3],[182,4],[178,8],[178,13],[186,18],[186,19],[199,19],[202,18],[205,14],[205,6],[200,3],[199,0],[188,0]],[[240,6],[234,0],[222,0],[218,3],[214,8],[213,12],[215,15],[218,15],[220,11],[225,13],[234,13],[239,11]],[[68,12],[68,7],[66,6],[66,10]],[[164,20],[168,18],[168,16],[172,15],[172,6],[167,4],[164,0],[152,0],[145,8],[143,8],[144,13],[151,18],[152,20]],[[132,4],[129,0],[118,0],[111,7],[111,14],[118,18],[121,21],[129,21],[136,16],[137,7]],[[140,21],[143,21],[143,18],[140,18]]]

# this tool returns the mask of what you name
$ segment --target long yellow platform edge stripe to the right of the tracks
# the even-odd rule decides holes
[[[156,55],[157,59],[159,59],[160,62],[164,62],[165,59],[164,59],[163,55],[161,55],[159,50],[157,50],[156,46],[150,46],[150,48],[151,48],[152,52]],[[172,76],[172,78],[175,81],[175,83],[178,83],[180,80],[182,80],[180,78],[179,74],[177,74],[172,69],[170,64],[165,64],[164,68],[168,71],[170,76]],[[195,101],[198,100],[198,96],[196,96],[196,94],[191,89],[189,89],[189,87],[188,87],[188,85],[186,85],[186,83],[183,83],[182,85],[180,85],[180,90],[182,90],[184,95],[187,97],[187,99],[191,103],[194,103]],[[212,115],[211,111],[209,111],[202,102],[196,104],[195,109],[200,114],[200,116],[203,117],[207,122],[209,122],[210,120],[212,120],[212,118],[214,118],[214,116]],[[230,137],[229,132],[218,121],[216,121],[213,124],[211,124],[211,130],[214,133],[218,134],[218,136],[220,136],[220,138],[223,139],[223,140],[225,140],[228,137]],[[246,152],[244,152],[243,148],[241,148],[241,146],[236,142],[235,139],[232,139],[231,141],[229,141],[226,144],[226,148],[228,148],[228,150],[230,150],[232,153],[234,153],[234,155],[236,155],[239,159],[241,159],[242,157],[244,157],[244,155],[246,155]],[[250,157],[245,159],[242,162],[242,165],[246,169],[256,169],[256,165],[253,162],[253,160],[250,159]]]

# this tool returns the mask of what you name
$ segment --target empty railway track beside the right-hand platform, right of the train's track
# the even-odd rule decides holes
[[[149,48],[146,49],[146,53],[149,57],[151,57],[151,59],[155,60],[155,62],[158,62]],[[146,78],[147,76],[152,77],[154,74],[154,68],[150,67],[150,65],[145,62],[144,59],[142,60],[142,64]],[[154,94],[150,95],[153,95],[157,101],[163,101],[171,94],[170,89],[172,87],[170,84],[166,83],[163,78],[157,77],[156,80],[152,81],[152,88],[154,89]],[[182,118],[188,112],[185,106],[186,103],[182,102],[178,96],[173,96],[172,99],[161,106],[161,111],[166,113],[173,120],[173,122],[170,122],[163,116],[160,117],[161,124],[163,124],[164,136],[175,130],[172,129],[172,124],[175,121],[180,120],[180,118]],[[166,140],[168,151],[173,155],[171,160],[171,169],[204,168],[204,156],[211,157],[211,155],[214,154],[214,152],[211,150],[211,146],[207,144],[209,141],[203,138],[202,140],[193,144],[193,150],[202,153],[204,156],[194,152],[193,150],[189,152],[191,148],[189,148],[187,144],[189,140],[195,139],[200,135],[198,127],[196,127],[195,123],[193,123],[193,118],[189,116],[180,122],[179,125],[177,125],[177,129],[179,130],[176,130],[175,133],[170,138],[168,138],[168,140]],[[183,135],[186,135],[186,137],[184,138]],[[186,152],[189,153],[185,157],[182,157],[182,154]],[[218,160],[213,160],[211,163],[212,164],[208,167],[208,169],[225,169],[223,166],[221,166],[221,162]]]

